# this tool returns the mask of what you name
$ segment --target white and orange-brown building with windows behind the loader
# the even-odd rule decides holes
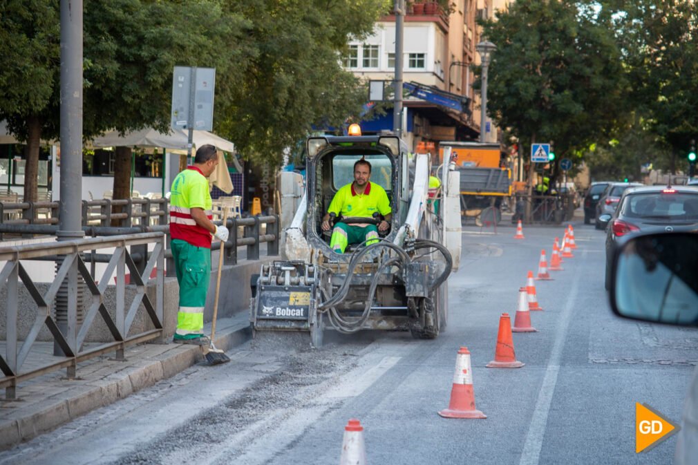
[[[419,2],[419,3],[417,3]],[[403,28],[403,82],[415,84],[427,94],[462,103],[449,108],[416,93],[403,92],[403,138],[416,147],[418,142],[440,140],[479,140],[480,93],[473,91],[473,70],[480,65],[475,45],[482,40],[477,18],[493,16],[505,8],[505,0],[454,0],[450,14],[433,1],[408,1]],[[362,79],[383,80],[386,87],[394,80],[395,16],[387,15],[376,24],[373,35],[349,44],[344,66]],[[415,86],[411,86],[412,89]],[[392,131],[392,112],[363,121],[364,133]],[[488,120],[489,121],[489,120]],[[485,140],[498,141],[498,131],[486,124]]]

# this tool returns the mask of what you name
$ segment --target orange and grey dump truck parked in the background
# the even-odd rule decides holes
[[[449,159],[444,158],[446,151],[450,152],[450,162],[460,174],[461,214],[474,216],[476,222],[481,216],[487,216],[487,221],[498,223],[501,200],[512,195],[512,170],[503,168],[500,145],[440,142],[442,160]]]

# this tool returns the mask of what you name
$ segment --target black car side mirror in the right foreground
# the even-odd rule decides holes
[[[611,309],[634,320],[698,326],[698,234],[632,236],[614,250]]]

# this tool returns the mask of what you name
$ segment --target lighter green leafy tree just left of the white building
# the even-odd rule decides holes
[[[244,16],[255,47],[217,127],[255,161],[276,165],[315,127],[359,115],[366,87],[342,68],[350,38],[371,34],[389,0],[226,2]]]

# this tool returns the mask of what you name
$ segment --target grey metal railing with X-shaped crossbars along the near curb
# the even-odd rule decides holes
[[[147,250],[149,244],[154,244],[154,250],[149,253],[144,267],[139,270],[128,248],[142,247]],[[94,271],[91,273],[88,270],[82,254],[98,249],[114,249],[114,252],[109,254],[110,258],[103,276],[96,280],[93,276]],[[54,260],[60,265],[57,267],[54,281],[42,294],[22,265],[22,260],[42,260],[45,258]],[[74,378],[77,363],[83,360],[98,357],[112,350],[115,351],[117,360],[124,360],[126,346],[163,337],[164,260],[165,235],[157,232],[0,248],[0,262],[6,262],[0,271],[0,288],[7,289],[6,302],[1,303],[5,306],[7,341],[5,354],[0,355],[0,370],[4,375],[3,378],[0,378],[0,388],[5,388],[6,399],[15,399],[17,384],[22,381],[61,368],[66,368],[68,378]],[[135,284],[135,295],[128,309],[126,309],[127,268],[131,274],[131,284]],[[145,283],[154,269],[156,269],[156,295],[154,302],[152,302],[146,294]],[[107,300],[104,297],[114,272],[116,272],[116,299],[113,309],[114,317],[112,318],[109,309],[107,309]],[[78,325],[76,304],[79,292],[78,274],[87,284],[91,296],[91,304],[88,302],[90,307],[85,312],[81,325]],[[20,308],[18,301],[20,280],[38,307],[34,324],[31,325],[29,332],[22,337],[18,334],[17,327]],[[68,284],[67,323],[59,323],[52,307],[61,284],[66,280]],[[130,335],[131,325],[141,304],[154,329]],[[85,338],[97,315],[101,316],[106,323],[114,341],[100,344],[95,348],[84,349]],[[61,326],[64,326],[63,330],[61,330]],[[60,347],[64,356],[60,357],[60,360],[39,367],[32,364],[32,368],[22,371],[29,351],[44,327],[50,331],[54,344]]]

